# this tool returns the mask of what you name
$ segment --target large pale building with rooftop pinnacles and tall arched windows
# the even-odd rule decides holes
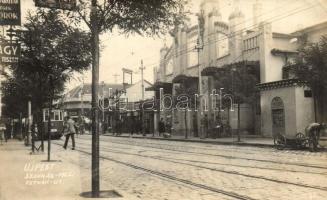
[[[238,1],[235,1],[234,10],[229,15],[229,21],[222,21],[219,10],[218,0],[203,0],[200,4],[199,13],[203,19],[198,24],[176,27],[172,31],[173,44],[170,47],[164,46],[160,50],[160,67],[154,70],[155,90],[158,92],[164,86],[167,94],[175,95],[176,81],[185,76],[193,78],[192,84],[198,85],[199,67],[201,73],[206,68],[221,68],[231,64],[249,65],[249,67],[259,68],[259,31],[251,30],[247,35],[243,35],[245,28],[245,16],[240,10]],[[232,34],[238,33],[238,34]],[[201,42],[201,35],[203,41]],[[198,42],[203,45],[202,49]],[[246,62],[244,62],[246,61]],[[169,89],[170,88],[170,89]],[[213,102],[210,101],[210,94],[214,89],[211,76],[202,75],[202,94],[203,99],[207,100],[207,107],[212,108]],[[201,107],[204,103],[201,102]],[[165,111],[160,114],[168,123],[172,124],[175,135],[183,135],[186,131],[185,124],[188,124],[190,135],[198,136],[197,130],[200,127],[200,120],[204,115],[208,115],[210,121],[214,121],[218,115],[226,125],[232,129],[237,127],[237,110],[229,112],[225,109],[224,113],[203,109],[204,113],[199,116],[197,112],[187,113],[187,123],[185,123],[184,112],[177,110]],[[257,133],[255,130],[256,111],[248,104],[241,105],[241,131],[247,133]]]

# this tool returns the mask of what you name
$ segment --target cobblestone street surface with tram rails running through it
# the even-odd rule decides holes
[[[110,185],[139,199],[327,199],[326,152],[108,136],[100,140],[101,187]],[[71,162],[80,166],[87,190],[91,137],[79,136],[76,142],[80,158]]]

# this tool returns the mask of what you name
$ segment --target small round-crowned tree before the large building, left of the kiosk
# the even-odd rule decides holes
[[[233,63],[225,66],[223,70],[215,74],[215,88],[224,88],[225,93],[233,96],[237,104],[237,140],[240,141],[240,105],[251,104],[252,107],[258,99],[256,84],[259,83],[258,69],[248,68],[246,62]],[[224,103],[224,102],[222,102]]]

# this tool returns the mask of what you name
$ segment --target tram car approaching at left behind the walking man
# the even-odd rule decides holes
[[[64,125],[64,111],[60,109],[52,109],[51,115],[51,139],[60,139],[63,134],[63,125]],[[43,140],[48,139],[48,120],[49,120],[49,109],[42,110],[42,122],[38,123],[38,139]]]

